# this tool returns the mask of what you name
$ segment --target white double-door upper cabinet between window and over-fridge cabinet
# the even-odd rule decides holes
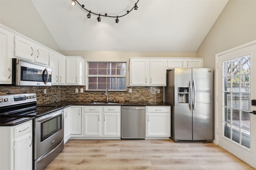
[[[166,86],[166,60],[130,58],[130,86]]]

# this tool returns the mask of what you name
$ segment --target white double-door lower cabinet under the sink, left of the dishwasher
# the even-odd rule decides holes
[[[120,139],[121,106],[85,106],[84,136],[89,139]]]

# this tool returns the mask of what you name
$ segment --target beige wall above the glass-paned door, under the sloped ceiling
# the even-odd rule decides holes
[[[229,0],[196,51],[204,67],[215,68],[215,54],[256,39],[256,0]]]

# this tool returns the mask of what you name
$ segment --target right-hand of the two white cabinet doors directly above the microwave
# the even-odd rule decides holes
[[[40,45],[36,45],[36,57],[35,62],[45,65],[49,65],[49,53],[50,51]]]

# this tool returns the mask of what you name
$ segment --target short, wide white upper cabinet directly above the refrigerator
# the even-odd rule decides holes
[[[202,68],[202,58],[169,58],[167,60],[167,69],[173,68]]]

